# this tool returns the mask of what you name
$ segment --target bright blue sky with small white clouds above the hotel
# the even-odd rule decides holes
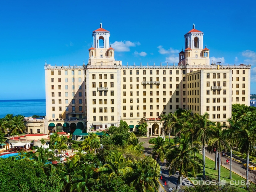
[[[252,65],[256,94],[255,1],[0,1],[0,7],[0,99],[44,99],[45,60],[82,65],[100,18],[115,57],[130,65],[177,64],[194,23],[213,60]]]

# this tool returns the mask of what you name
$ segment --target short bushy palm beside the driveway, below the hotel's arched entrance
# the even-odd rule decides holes
[[[156,138],[156,144],[149,146],[149,147],[153,148],[153,151],[151,152],[153,158],[156,158],[156,156],[157,156],[157,163],[158,163],[159,159],[161,162],[164,162],[166,145],[167,145],[166,141],[164,141],[163,138],[158,137],[158,138]],[[157,167],[157,164],[156,164],[156,167]]]

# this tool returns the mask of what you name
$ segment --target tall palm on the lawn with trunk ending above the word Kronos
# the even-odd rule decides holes
[[[205,144],[207,140],[207,130],[209,126],[212,125],[207,119],[209,116],[208,113],[204,113],[203,115],[194,114],[195,116],[195,131],[197,140],[202,142],[202,153],[203,153],[203,179],[205,179]]]

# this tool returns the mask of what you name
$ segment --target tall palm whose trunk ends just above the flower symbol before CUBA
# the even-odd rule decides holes
[[[209,148],[216,148],[216,151],[218,151],[218,183],[220,184],[220,163],[221,163],[221,153],[222,150],[227,151],[229,148],[227,137],[222,130],[222,125],[218,122],[216,126],[210,126],[210,129],[208,131],[209,140],[208,140],[208,147]]]

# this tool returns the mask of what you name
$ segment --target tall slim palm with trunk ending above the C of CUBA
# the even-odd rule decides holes
[[[236,144],[238,144],[237,140],[239,138],[238,130],[239,126],[237,123],[237,119],[235,117],[231,117],[228,120],[229,126],[226,126],[226,130],[224,130],[230,147],[230,163],[229,163],[229,179],[232,179],[232,147]]]

